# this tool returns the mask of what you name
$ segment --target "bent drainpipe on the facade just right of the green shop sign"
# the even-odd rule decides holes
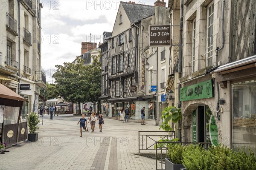
[[[222,14],[221,14],[221,48],[216,48],[216,56],[215,56],[215,66],[218,65],[218,51],[222,50],[224,48],[224,10],[225,9],[225,0],[223,0],[222,4]],[[220,113],[221,109],[219,108],[219,100],[220,100],[220,91],[219,91],[219,85],[218,82],[216,82],[216,88],[217,88],[217,103],[216,103],[216,113],[217,113],[217,119],[220,120]]]

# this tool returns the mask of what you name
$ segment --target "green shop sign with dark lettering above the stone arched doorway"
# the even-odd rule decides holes
[[[180,89],[180,101],[213,97],[212,80],[189,85]]]

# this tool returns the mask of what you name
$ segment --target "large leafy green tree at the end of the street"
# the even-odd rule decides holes
[[[101,94],[101,68],[99,56],[92,57],[92,65],[84,65],[84,60],[77,58],[76,64],[64,62],[64,66],[55,65],[55,92],[66,102],[96,102]]]

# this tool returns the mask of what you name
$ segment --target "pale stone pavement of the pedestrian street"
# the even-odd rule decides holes
[[[79,137],[79,119],[80,116],[59,115],[50,120],[45,115],[44,125],[39,125],[38,141],[21,142],[21,147],[10,147],[9,153],[0,154],[0,170],[155,169],[155,159],[134,153],[138,153],[138,131],[158,130],[158,126],[104,119],[103,132],[99,132],[96,122],[95,132],[91,133],[88,125],[89,131]]]

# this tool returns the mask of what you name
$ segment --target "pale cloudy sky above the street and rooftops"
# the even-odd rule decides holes
[[[128,2],[123,0],[124,2]],[[135,1],[135,0],[134,0]],[[156,0],[136,0],[152,5]],[[40,0],[42,68],[47,82],[55,65],[72,62],[81,55],[81,42],[102,42],[104,31],[112,32],[120,0]],[[90,36],[91,34],[91,36]]]

